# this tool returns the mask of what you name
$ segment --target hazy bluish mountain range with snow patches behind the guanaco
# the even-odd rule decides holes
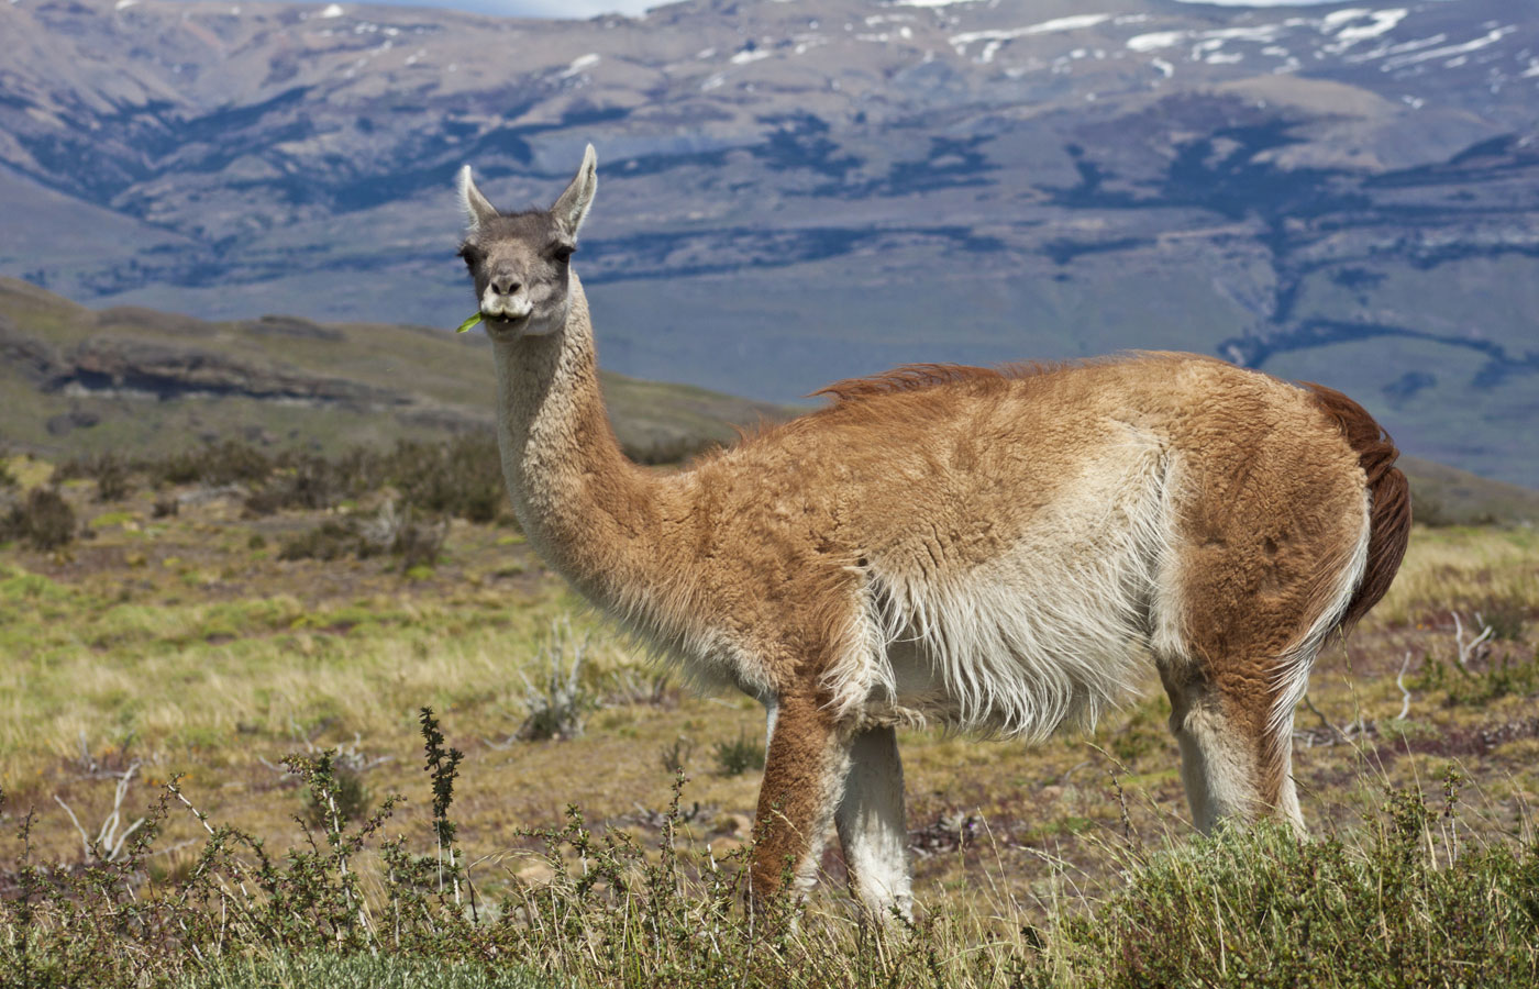
[[[593,142],[616,371],[783,401],[1193,349],[1539,486],[1530,3],[11,0],[0,37],[0,272],[92,306],[449,328],[454,171],[548,205]]]

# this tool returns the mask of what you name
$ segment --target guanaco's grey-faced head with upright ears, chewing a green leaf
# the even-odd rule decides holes
[[[577,177],[549,209],[497,212],[460,169],[460,203],[469,220],[460,257],[476,280],[476,300],[494,338],[537,337],[566,321],[569,261],[577,231],[599,188],[599,157],[588,145]]]

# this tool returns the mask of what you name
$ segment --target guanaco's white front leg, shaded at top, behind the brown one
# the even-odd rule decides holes
[[[876,920],[891,920],[896,907],[913,917],[903,763],[891,726],[868,728],[851,741],[850,772],[834,821],[851,892],[866,912]]]

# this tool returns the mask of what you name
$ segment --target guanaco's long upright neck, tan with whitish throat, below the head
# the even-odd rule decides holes
[[[588,300],[576,274],[563,329],[494,341],[497,445],[514,511],[545,560],[594,603],[666,568],[666,485],[633,465],[599,391]]]

